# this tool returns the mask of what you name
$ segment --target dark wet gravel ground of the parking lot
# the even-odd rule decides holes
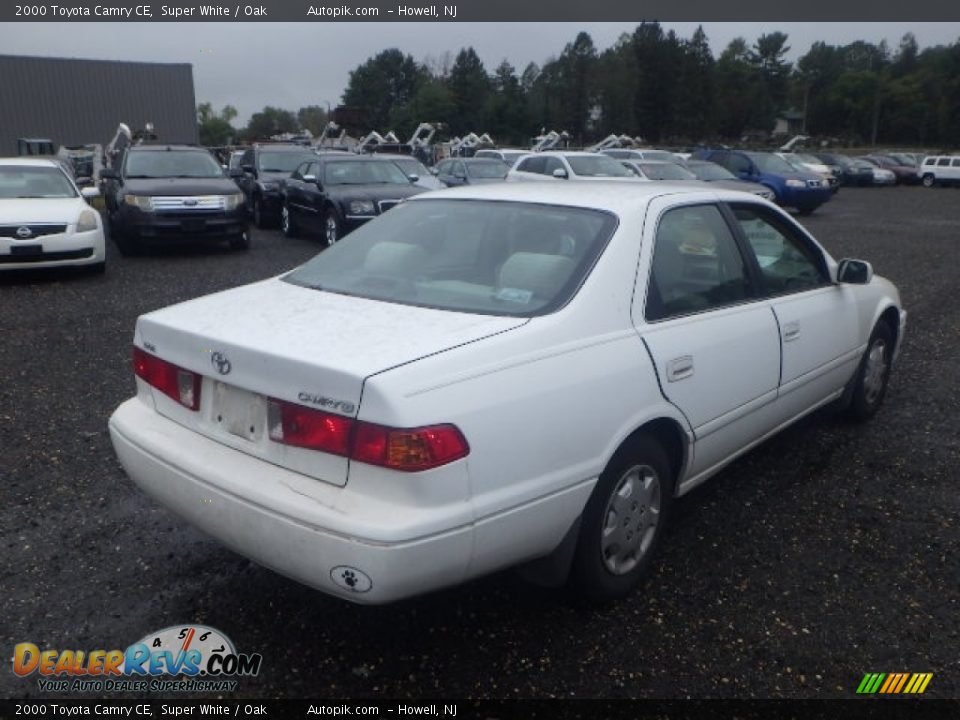
[[[136,317],[264,278],[317,241],[0,277],[0,644],[125,648],[198,622],[259,652],[241,697],[852,697],[868,672],[960,696],[960,192],[843,189],[802,218],[910,313],[886,405],[820,413],[681,500],[659,568],[578,606],[504,573],[398,605],[321,595],[141,494],[106,431],[133,393]],[[237,312],[244,312],[238,307]],[[3,697],[41,697],[0,673]]]

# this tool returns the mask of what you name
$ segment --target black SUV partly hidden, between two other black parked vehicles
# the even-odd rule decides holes
[[[243,175],[237,185],[243,190],[247,210],[258,228],[273,225],[280,217],[280,182],[290,177],[305,160],[317,155],[303,145],[257,143],[240,158]]]

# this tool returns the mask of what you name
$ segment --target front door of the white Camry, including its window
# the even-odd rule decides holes
[[[780,416],[789,419],[843,389],[860,358],[854,290],[834,283],[823,251],[782,212],[730,205],[777,319]]]

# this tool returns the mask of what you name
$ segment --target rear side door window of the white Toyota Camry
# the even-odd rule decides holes
[[[743,256],[716,206],[664,213],[653,248],[647,320],[712,310],[750,296]]]

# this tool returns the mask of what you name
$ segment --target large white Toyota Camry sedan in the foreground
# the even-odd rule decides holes
[[[140,317],[110,432],[157,501],[348,600],[521,564],[619,597],[674,497],[823,405],[873,415],[905,318],[749,193],[440,191]]]

